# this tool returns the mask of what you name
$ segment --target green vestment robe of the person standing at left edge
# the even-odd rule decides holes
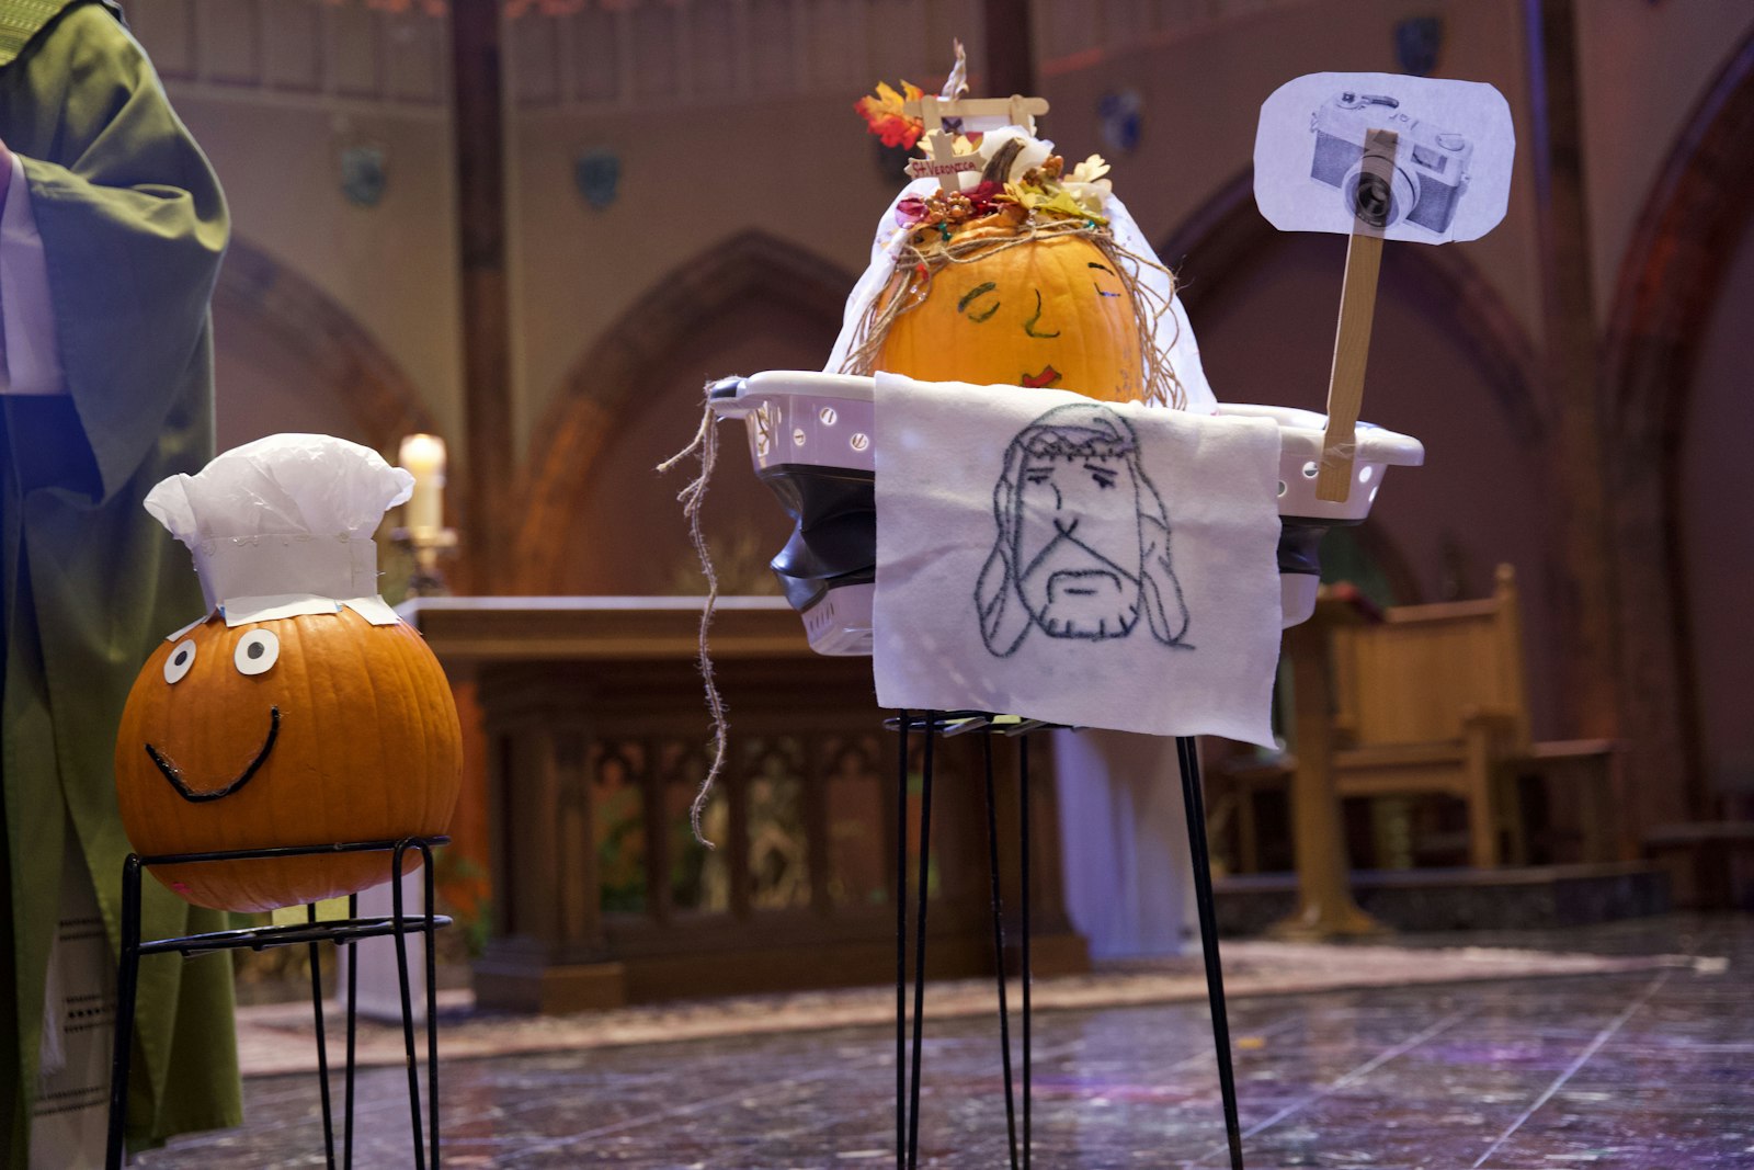
[[[67,396],[0,396],[0,1165],[26,1166],[63,849],[114,951],[112,747],[153,646],[203,610],[140,507],[212,454],[225,198],[139,44],[95,0],[0,0],[0,140],[25,167]],[[70,831],[68,831],[70,826]],[[154,881],[142,937],[223,930]],[[240,1121],[226,954],[140,965],[133,1144]]]

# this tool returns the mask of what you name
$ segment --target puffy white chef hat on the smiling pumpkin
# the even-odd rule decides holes
[[[396,614],[377,595],[372,533],[414,477],[332,435],[268,435],[172,475],[146,495],[195,554],[207,605],[228,626],[342,605],[372,624]]]

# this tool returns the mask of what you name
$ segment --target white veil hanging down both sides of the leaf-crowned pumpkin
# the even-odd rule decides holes
[[[1038,167],[1042,160],[1054,153],[1054,144],[1051,140],[1037,139],[1019,126],[988,132],[980,139],[980,146],[977,149],[982,158],[991,158],[1014,139],[1023,144],[1023,149],[1012,160],[1009,175],[1012,181],[1021,177],[1030,167]],[[980,175],[977,172],[965,172],[958,175],[958,182],[965,189],[979,182],[979,179]],[[1133,216],[1126,210],[1126,205],[1116,198],[1109,181],[1102,179],[1093,186],[1102,193],[1102,214],[1109,219],[1109,230],[1114,233],[1116,244],[1135,256],[1156,260],[1156,249],[1152,249],[1145,233],[1138,230],[1138,225],[1133,223]],[[865,275],[859,277],[859,282],[852,286],[852,295],[847,296],[840,337],[835,339],[835,347],[828,356],[828,363],[823,367],[830,374],[845,372],[847,358],[859,344],[859,330],[865,316],[870,310],[872,302],[882,296],[884,288],[889,284],[889,277],[895,275],[896,256],[912,233],[910,228],[898,223],[896,210],[902,207],[903,200],[924,198],[937,189],[937,179],[914,179],[902,188],[902,193],[896,195],[895,202],[889,203],[888,210],[884,210],[882,219],[877,221],[877,235],[872,240],[870,267],[865,268]],[[1194,340],[1194,328],[1187,321],[1187,310],[1182,309],[1180,298],[1175,296],[1168,270],[1161,267],[1138,265],[1137,277],[1152,298],[1170,302],[1170,310],[1158,319],[1156,342],[1158,351],[1168,358],[1170,368],[1182,384],[1182,391],[1187,396],[1186,409],[1196,414],[1214,414],[1217,410],[1217,398],[1212,395],[1212,386],[1207,382],[1205,368],[1200,365],[1200,342]]]

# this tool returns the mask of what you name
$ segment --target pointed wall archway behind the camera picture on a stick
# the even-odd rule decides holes
[[[1323,410],[1345,237],[1284,233],[1244,172],[1168,235],[1159,254],[1219,398]],[[1354,553],[1398,602],[1486,596],[1494,568],[1524,582],[1531,714],[1559,733],[1551,551],[1540,516],[1554,432],[1537,347],[1465,247],[1384,251],[1365,417],[1424,440],[1426,467],[1396,470]],[[1338,554],[1338,549],[1337,549]]]

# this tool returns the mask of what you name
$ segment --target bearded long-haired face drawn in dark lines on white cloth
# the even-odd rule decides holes
[[[1012,439],[993,488],[998,540],[975,582],[980,637],[1005,658],[1040,628],[1051,639],[1152,637],[1187,649],[1187,605],[1170,568],[1170,523],[1112,409],[1079,402]]]

